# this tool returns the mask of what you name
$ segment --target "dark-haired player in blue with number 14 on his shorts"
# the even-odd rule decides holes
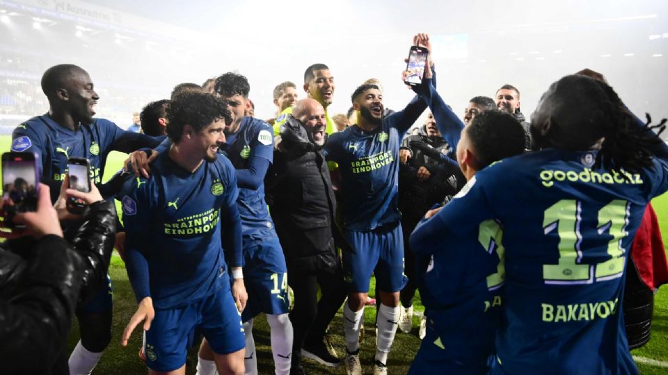
[[[271,328],[271,353],[276,374],[289,374],[292,356],[292,324],[287,315],[287,266],[283,249],[264,201],[264,176],[273,160],[273,135],[266,122],[244,116],[250,107],[250,85],[240,74],[216,78],[216,94],[228,102],[232,122],[225,125],[225,144],[237,173],[239,215],[243,228],[244,274],[248,306],[241,315],[246,333],[246,374],[257,374],[253,317],[267,314]],[[211,374],[206,342],[200,348],[199,374]]]

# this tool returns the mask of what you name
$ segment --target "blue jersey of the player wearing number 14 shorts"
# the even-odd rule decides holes
[[[260,157],[273,161],[273,130],[266,122],[253,117],[241,119],[237,133],[226,135],[221,151],[230,158],[234,169],[247,169],[248,160]],[[261,179],[264,179],[262,176]],[[267,203],[264,201],[264,183],[257,189],[239,187],[239,215],[244,233],[253,228],[273,226]]]

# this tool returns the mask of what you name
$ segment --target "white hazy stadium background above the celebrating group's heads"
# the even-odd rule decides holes
[[[274,86],[301,87],[312,63],[335,76],[331,115],[367,78],[398,110],[412,97],[399,77],[419,32],[458,114],[511,83],[529,117],[550,83],[589,67],[633,112],[668,116],[668,1],[0,0],[0,130],[47,111],[39,80],[59,63],[88,70],[98,116],[124,128],[177,83],[228,71],[248,77],[256,117],[272,117]]]

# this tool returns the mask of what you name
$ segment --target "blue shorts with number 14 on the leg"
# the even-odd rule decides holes
[[[259,313],[287,313],[287,266],[273,228],[244,234],[244,285],[248,292],[241,314],[244,322]]]

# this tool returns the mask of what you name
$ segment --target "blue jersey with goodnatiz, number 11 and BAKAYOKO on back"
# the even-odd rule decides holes
[[[493,373],[634,374],[621,313],[630,243],[668,189],[668,148],[637,174],[545,149],[478,172],[434,219],[458,238],[496,219],[505,249]]]

